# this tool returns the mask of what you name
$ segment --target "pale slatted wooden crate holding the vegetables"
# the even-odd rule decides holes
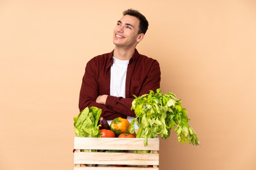
[[[159,138],[148,139],[144,146],[143,138],[74,138],[74,170],[159,170]],[[80,152],[81,149],[130,150],[127,153]],[[154,153],[132,153],[131,150],[154,150]],[[109,167],[82,167],[80,164],[105,164]],[[114,167],[111,165],[126,165]],[[136,167],[132,165],[153,165]]]

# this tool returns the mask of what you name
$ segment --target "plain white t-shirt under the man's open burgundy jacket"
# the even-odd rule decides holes
[[[110,67],[110,95],[125,98],[126,72],[129,60],[119,60],[113,57],[113,65]],[[127,116],[127,120],[131,122],[134,117]],[[111,124],[112,120],[108,120]],[[139,129],[137,124],[135,129]]]

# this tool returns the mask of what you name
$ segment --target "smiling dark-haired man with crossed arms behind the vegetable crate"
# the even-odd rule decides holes
[[[159,63],[139,54],[136,46],[148,29],[146,17],[128,9],[114,28],[115,49],[91,59],[85,68],[79,97],[79,109],[98,107],[106,120],[121,117],[129,121],[133,94],[141,96],[160,87]]]

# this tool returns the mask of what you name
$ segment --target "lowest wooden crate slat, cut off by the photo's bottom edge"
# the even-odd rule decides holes
[[[159,170],[159,168],[143,168],[143,167],[74,167],[74,170]]]

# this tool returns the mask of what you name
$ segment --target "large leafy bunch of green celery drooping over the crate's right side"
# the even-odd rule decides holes
[[[193,145],[200,145],[198,137],[189,125],[189,118],[186,116],[186,109],[182,107],[181,100],[171,92],[161,94],[161,89],[157,89],[154,93],[150,90],[149,94],[144,94],[140,97],[135,97],[132,101],[131,109],[135,110],[136,118],[132,120],[130,133],[134,131],[134,124],[139,119],[140,125],[137,133],[137,138],[144,138],[144,145],[147,146],[148,138],[155,138],[161,135],[166,139],[171,134],[171,129],[176,128],[177,141],[184,144],[187,142]],[[134,151],[134,152],[148,152]]]

